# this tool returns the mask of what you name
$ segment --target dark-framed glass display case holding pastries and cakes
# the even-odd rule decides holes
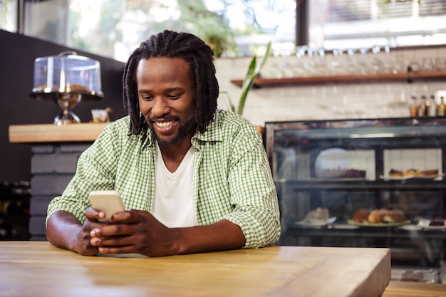
[[[392,266],[446,254],[446,118],[265,124],[281,245],[388,247]]]

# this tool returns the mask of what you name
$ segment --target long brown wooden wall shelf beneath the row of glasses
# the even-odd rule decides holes
[[[296,78],[256,78],[254,88],[271,88],[284,85],[312,85],[321,83],[353,83],[368,81],[405,81],[408,79],[446,80],[446,71],[422,71],[410,73],[350,74],[331,76],[306,76]],[[231,83],[242,87],[243,80],[231,80]]]

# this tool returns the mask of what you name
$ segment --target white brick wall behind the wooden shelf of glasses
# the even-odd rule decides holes
[[[390,58],[400,59],[404,67],[422,58],[445,57],[446,47],[391,51]],[[284,58],[270,57],[262,75],[274,73],[274,65]],[[242,79],[251,58],[221,58],[215,61],[220,90],[238,102],[240,88],[230,80]],[[287,58],[290,64],[295,57]],[[421,86],[424,84],[415,81]],[[329,120],[343,118],[407,117],[408,98],[412,86],[405,82],[325,83],[318,85],[284,86],[252,89],[245,105],[244,116],[254,125],[276,120]],[[446,81],[427,81],[428,94],[446,90]],[[219,108],[227,109],[228,96],[222,93]]]

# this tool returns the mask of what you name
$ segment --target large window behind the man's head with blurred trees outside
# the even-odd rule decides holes
[[[167,28],[195,33],[218,54],[246,56],[271,38],[293,43],[295,6],[295,0],[29,0],[24,33],[126,61]]]

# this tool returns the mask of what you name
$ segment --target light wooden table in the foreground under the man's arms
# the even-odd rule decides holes
[[[381,296],[389,249],[271,246],[160,258],[0,241],[0,296]]]

